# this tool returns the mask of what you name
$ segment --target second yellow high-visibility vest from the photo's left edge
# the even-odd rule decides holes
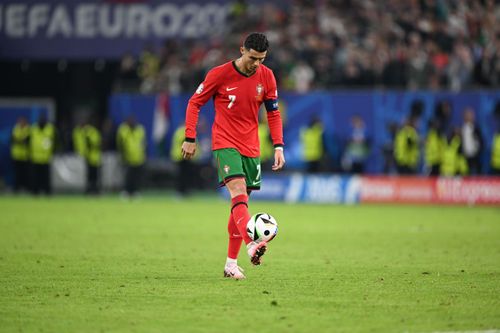
[[[35,164],[49,164],[54,151],[55,129],[47,123],[43,128],[38,124],[31,127],[31,161]]]

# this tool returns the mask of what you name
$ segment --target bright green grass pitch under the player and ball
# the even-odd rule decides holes
[[[222,277],[228,203],[0,198],[1,332],[500,328],[500,210],[251,203],[263,265]]]

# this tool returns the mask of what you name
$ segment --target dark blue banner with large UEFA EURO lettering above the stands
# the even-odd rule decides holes
[[[119,58],[148,43],[218,36],[227,29],[230,6],[223,0],[2,0],[0,58]]]

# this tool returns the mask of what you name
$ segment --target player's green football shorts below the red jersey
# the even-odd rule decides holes
[[[243,156],[234,148],[214,150],[213,154],[220,186],[231,178],[245,177],[248,189],[260,189],[260,157]]]

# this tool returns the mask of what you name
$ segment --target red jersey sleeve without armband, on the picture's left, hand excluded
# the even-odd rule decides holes
[[[194,142],[196,140],[196,125],[200,109],[217,91],[217,71],[212,69],[207,73],[205,80],[200,83],[195,93],[189,99],[186,108],[186,140]]]

